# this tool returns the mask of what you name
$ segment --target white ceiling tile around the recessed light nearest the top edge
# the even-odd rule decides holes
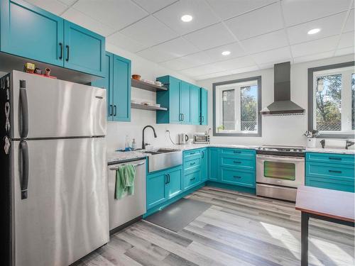
[[[192,21],[181,21],[186,14],[192,16]],[[154,13],[154,16],[182,35],[219,22],[204,0],[180,0]]]

